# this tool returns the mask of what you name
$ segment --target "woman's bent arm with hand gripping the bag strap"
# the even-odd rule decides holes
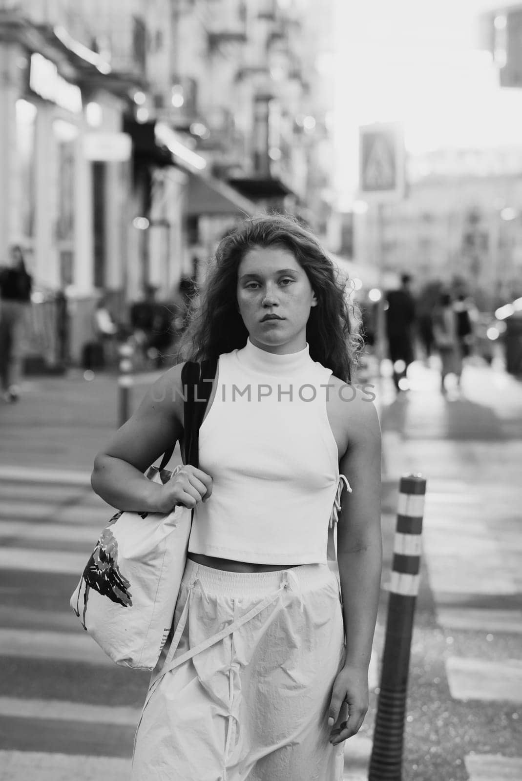
[[[134,415],[96,456],[91,485],[109,505],[120,510],[170,512],[175,505],[194,507],[212,493],[209,475],[190,465],[164,486],[144,475],[183,433],[182,368],[183,364],[174,366],[152,385]]]

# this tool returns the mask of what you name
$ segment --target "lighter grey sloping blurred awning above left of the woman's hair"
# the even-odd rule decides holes
[[[188,174],[188,197],[185,213],[188,216],[198,215],[243,215],[252,216],[256,206],[235,191],[228,184],[205,177],[197,173]]]

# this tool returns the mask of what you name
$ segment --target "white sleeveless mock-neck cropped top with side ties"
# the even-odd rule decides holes
[[[338,490],[327,418],[331,370],[309,346],[274,355],[248,340],[220,355],[216,395],[199,432],[199,467],[213,477],[188,550],[259,564],[325,564]]]

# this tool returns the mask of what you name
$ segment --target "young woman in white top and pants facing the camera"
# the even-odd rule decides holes
[[[109,504],[195,508],[133,781],[342,778],[344,741],[368,707],[381,583],[381,433],[348,384],[357,346],[313,234],[281,216],[248,220],[221,241],[187,334],[188,357],[219,357],[200,468],[165,486],[143,476],[182,437],[182,365],[96,457],[92,484]],[[341,602],[327,532],[344,481]]]

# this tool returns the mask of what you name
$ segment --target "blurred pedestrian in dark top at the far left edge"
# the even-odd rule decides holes
[[[23,251],[11,248],[10,265],[0,270],[0,383],[5,401],[18,401],[23,373],[23,337],[33,279]]]

